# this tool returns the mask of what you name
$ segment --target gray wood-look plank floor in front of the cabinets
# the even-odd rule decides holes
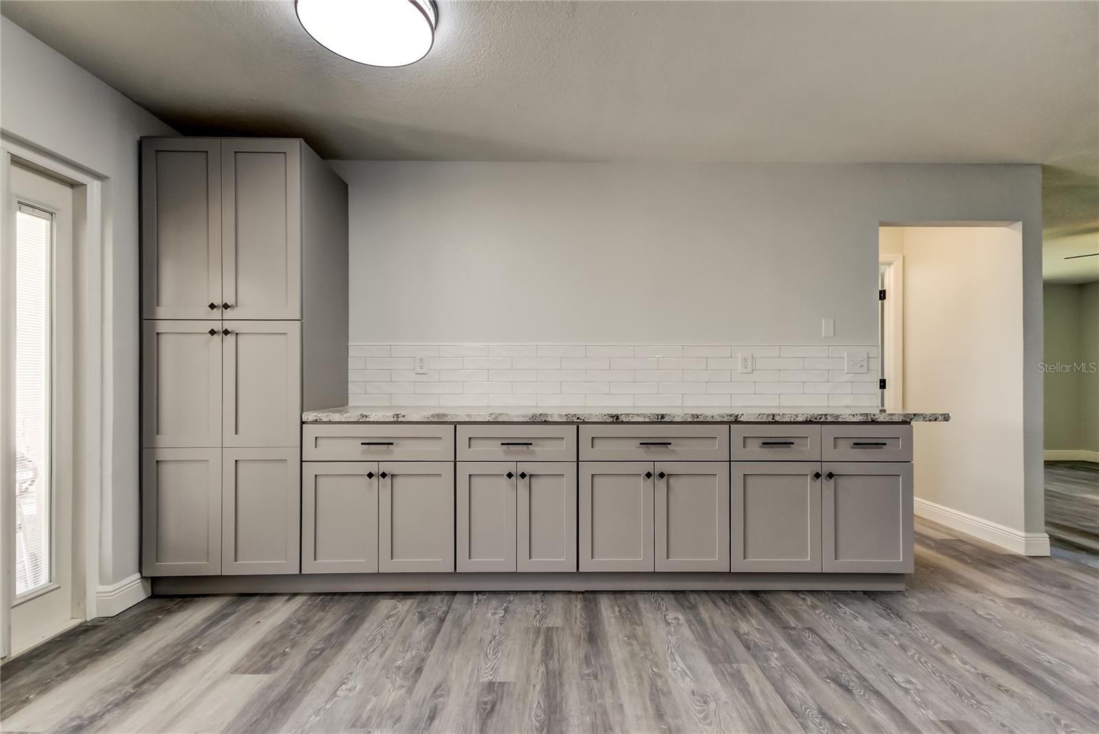
[[[904,592],[154,598],[0,667],[21,732],[1097,732],[1099,569],[917,521]]]

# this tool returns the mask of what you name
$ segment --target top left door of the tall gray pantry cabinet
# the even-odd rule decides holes
[[[221,319],[221,143],[146,137],[141,167],[142,316]]]

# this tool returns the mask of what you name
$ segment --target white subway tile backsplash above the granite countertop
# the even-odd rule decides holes
[[[844,355],[866,352],[868,371]],[[831,345],[351,344],[355,405],[873,407],[877,347]],[[753,356],[741,372],[739,356]],[[428,372],[417,375],[415,357]]]

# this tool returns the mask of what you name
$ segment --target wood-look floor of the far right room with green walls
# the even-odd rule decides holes
[[[1099,554],[1099,464],[1045,463],[1045,532],[1065,550]]]

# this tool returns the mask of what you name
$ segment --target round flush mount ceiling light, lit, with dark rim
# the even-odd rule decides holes
[[[369,66],[408,66],[435,41],[431,0],[297,0],[295,9],[317,43]]]

